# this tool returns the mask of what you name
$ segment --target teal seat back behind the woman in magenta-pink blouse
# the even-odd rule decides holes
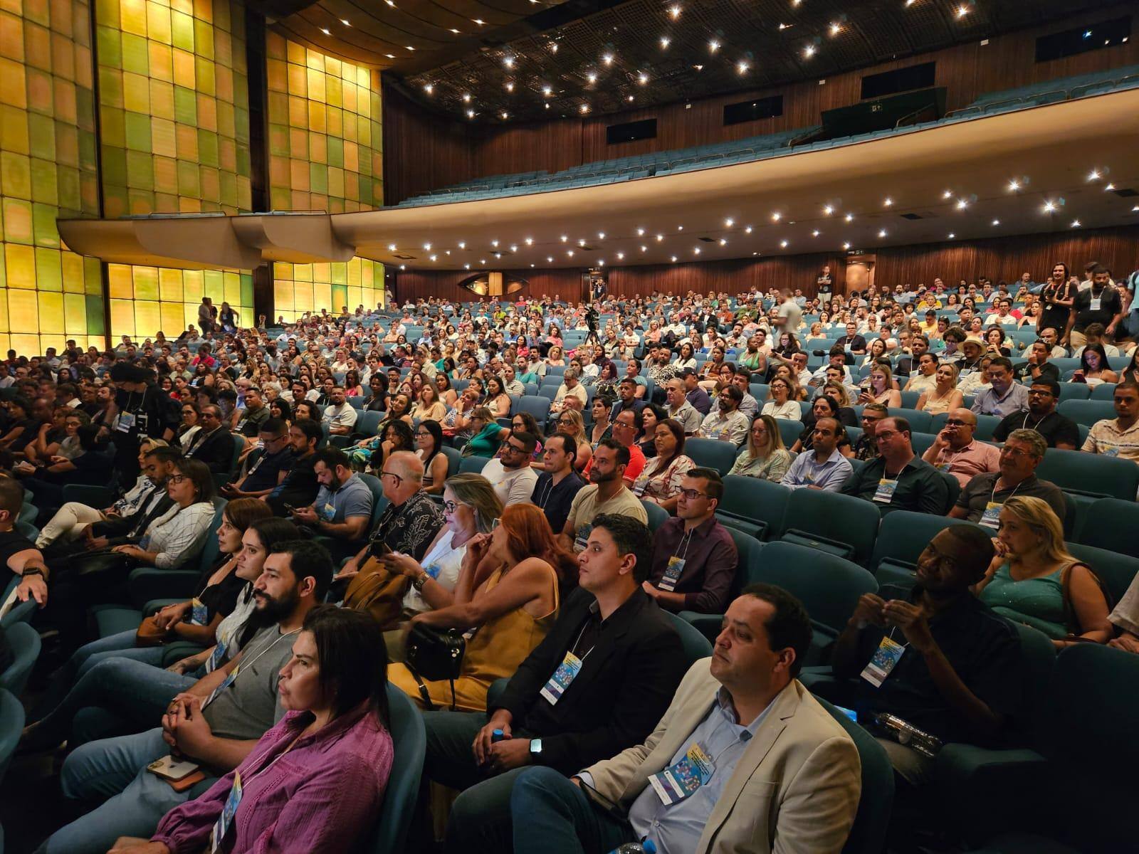
[[[371,838],[361,847],[364,854],[402,854],[416,813],[419,780],[427,756],[427,730],[423,715],[399,688],[388,683],[387,705],[392,716],[392,773]]]

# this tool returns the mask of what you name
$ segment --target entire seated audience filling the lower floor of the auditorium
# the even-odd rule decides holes
[[[1035,474],[1139,465],[1139,276],[1085,276],[433,298],[9,352],[5,607],[43,640],[22,748],[58,752],[77,815],[41,851],[349,851],[394,782],[388,687],[427,733],[410,849],[841,851],[861,748],[812,690],[901,798],[934,763],[876,716],[1008,744],[1018,626],[1139,654],[1139,581],[1114,600],[1065,542],[1071,485]],[[1074,385],[1115,417],[1058,411]],[[945,520],[912,586],[847,615],[833,683],[803,673],[804,606],[740,583],[743,478]]]

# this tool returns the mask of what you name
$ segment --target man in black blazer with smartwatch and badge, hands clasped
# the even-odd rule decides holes
[[[464,790],[448,821],[449,852],[509,851],[522,769],[572,774],[640,744],[689,665],[669,616],[641,590],[653,560],[644,523],[598,516],[577,560],[581,586],[501,696],[489,698],[489,714],[424,714],[425,773]]]

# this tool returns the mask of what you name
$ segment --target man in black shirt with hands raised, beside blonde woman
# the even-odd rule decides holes
[[[921,552],[910,593],[865,593],[835,643],[835,676],[852,680],[836,701],[942,741],[999,745],[1021,701],[1023,663],[1016,629],[970,591],[992,557],[983,531],[953,526]],[[928,782],[932,758],[885,732],[878,741],[904,781]]]

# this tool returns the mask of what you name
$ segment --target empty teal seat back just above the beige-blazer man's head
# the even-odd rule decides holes
[[[846,625],[859,597],[878,583],[866,569],[818,549],[793,543],[768,543],[760,555],[760,578],[794,594],[811,622],[837,634]]]

